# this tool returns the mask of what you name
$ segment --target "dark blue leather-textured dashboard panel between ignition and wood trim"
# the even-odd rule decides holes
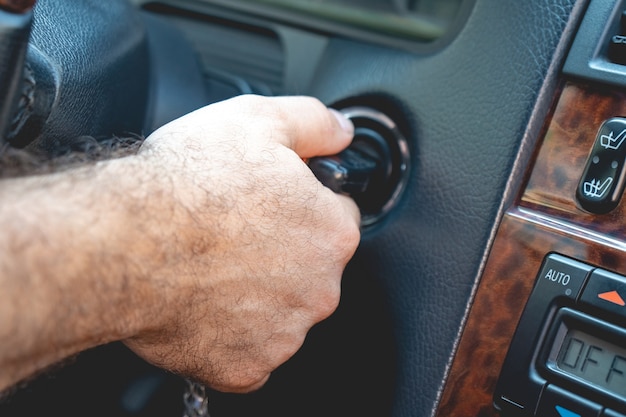
[[[384,292],[397,353],[395,417],[429,416],[436,406],[514,158],[557,45],[568,42],[561,37],[574,3],[477,0],[438,51],[335,40],[319,65],[314,95],[333,103],[374,92],[393,97],[407,118],[408,192],[384,227],[364,236],[347,278],[373,276]]]

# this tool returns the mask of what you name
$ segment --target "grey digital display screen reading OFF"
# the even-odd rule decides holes
[[[562,372],[626,397],[626,347],[568,329],[558,352],[556,366]]]

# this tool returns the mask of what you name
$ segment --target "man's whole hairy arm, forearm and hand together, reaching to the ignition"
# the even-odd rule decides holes
[[[0,391],[123,340],[216,389],[260,387],[339,301],[358,209],[302,158],[349,123],[302,97],[239,97],[137,155],[0,182]]]

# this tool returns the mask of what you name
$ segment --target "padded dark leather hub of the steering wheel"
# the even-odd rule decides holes
[[[146,33],[125,0],[40,0],[31,48],[49,63],[54,102],[35,146],[63,153],[75,138],[141,133],[150,68]]]

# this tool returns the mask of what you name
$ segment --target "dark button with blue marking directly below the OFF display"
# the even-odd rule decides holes
[[[599,417],[602,407],[583,397],[554,385],[548,385],[541,395],[537,416],[541,417]]]

